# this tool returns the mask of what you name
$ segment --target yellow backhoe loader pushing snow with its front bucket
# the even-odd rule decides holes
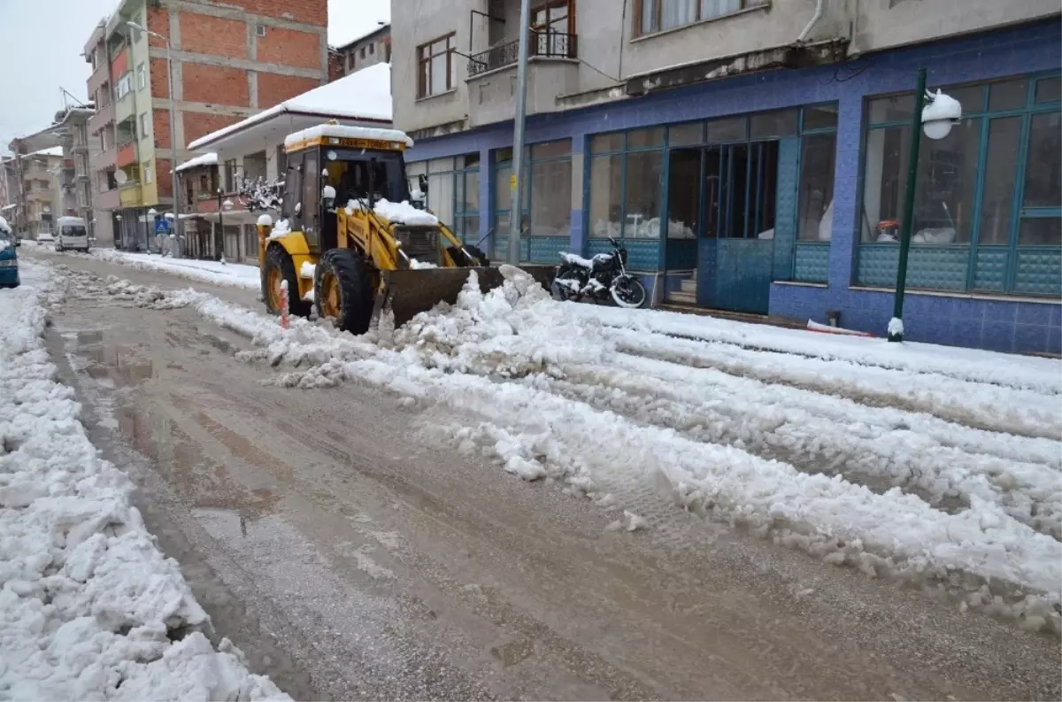
[[[440,302],[453,304],[476,271],[485,292],[502,276],[431,212],[409,204],[404,133],[323,124],[285,140],[281,219],[258,224],[262,297],[273,313],[287,280],[289,310],[330,318],[364,333],[390,309],[401,325]],[[422,179],[419,189],[426,191]],[[553,267],[525,266],[549,289]]]

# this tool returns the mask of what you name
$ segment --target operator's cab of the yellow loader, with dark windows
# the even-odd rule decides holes
[[[282,215],[292,229],[304,234],[311,253],[337,247],[336,208],[350,201],[409,200],[404,145],[322,137],[288,148]],[[335,190],[335,202],[325,201],[326,186]]]

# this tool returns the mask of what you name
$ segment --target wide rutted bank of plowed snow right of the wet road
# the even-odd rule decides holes
[[[966,379],[943,376],[931,362],[919,373],[912,361],[891,370],[872,363],[864,380],[856,373],[863,366],[827,360],[858,353],[847,338],[815,337],[820,348],[845,343],[810,358],[674,339],[616,324],[604,308],[590,314],[562,306],[523,274],[503,273],[498,290],[484,295],[467,286],[453,307],[361,338],[303,320],[285,331],[203,293],[108,285],[140,305],[194,307],[251,337],[258,348],[241,354],[245,360],[284,366],[272,382],[367,382],[409,404],[478,416],[475,426],[435,431],[525,480],[563,481],[602,508],[648,516],[650,528],[665,519],[637,514],[639,495],[666,486],[681,508],[826,563],[935,584],[961,595],[963,606],[1062,634],[1055,609],[1062,602],[1062,445],[1043,430],[1046,413],[1011,412],[1058,401],[1040,382],[1051,362],[1038,359],[1026,376],[1024,359],[1007,357],[1007,383],[971,379],[989,377],[998,355],[987,355],[983,369],[970,365]],[[712,322],[702,322],[702,336]],[[668,344],[679,352],[653,357],[667,356]],[[626,353],[630,347],[654,353]],[[690,361],[705,353],[719,361],[727,352],[741,367]],[[845,375],[830,363],[852,367]],[[970,412],[912,411],[922,409],[915,401],[890,407],[880,390],[870,401],[862,390],[832,393],[838,379],[881,380],[897,395],[904,382],[922,383],[931,401],[921,404],[932,408],[962,409],[964,398],[988,396],[1004,424],[1021,424],[1030,435],[977,426],[991,422],[987,414],[971,427],[963,422]],[[640,529],[639,519],[627,523]]]

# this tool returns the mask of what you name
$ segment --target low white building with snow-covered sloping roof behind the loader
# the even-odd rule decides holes
[[[244,184],[287,178],[289,134],[332,120],[390,129],[391,105],[391,67],[376,64],[191,142],[195,157],[177,167],[188,255],[257,262],[260,212],[247,209]]]

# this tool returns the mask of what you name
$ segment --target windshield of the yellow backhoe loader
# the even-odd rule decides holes
[[[336,188],[336,204],[366,199],[409,200],[405,164],[399,152],[360,149],[324,150],[325,185]]]

